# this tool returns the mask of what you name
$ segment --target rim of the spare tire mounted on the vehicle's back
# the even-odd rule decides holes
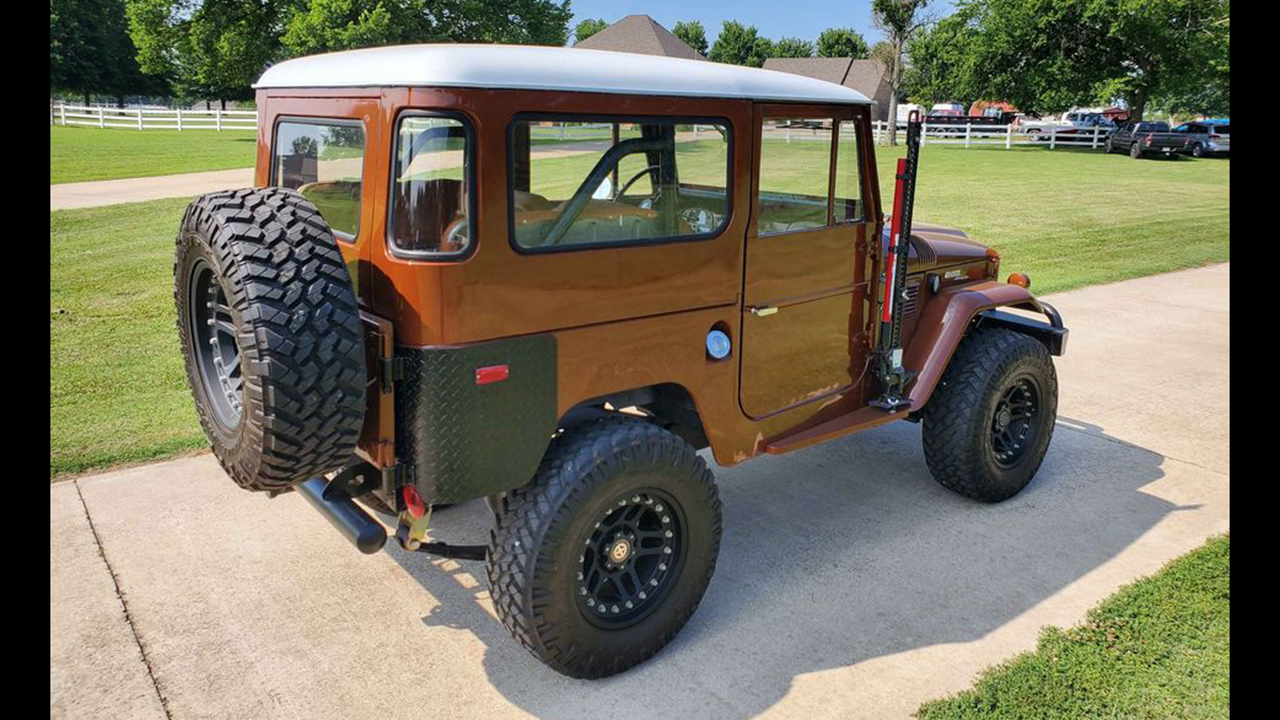
[[[209,407],[219,425],[239,425],[244,378],[230,304],[212,268],[198,260],[191,269],[187,299],[191,351]]]

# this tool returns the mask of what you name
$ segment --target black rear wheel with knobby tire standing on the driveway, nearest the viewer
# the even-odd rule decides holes
[[[685,626],[719,539],[716,483],[689,443],[648,421],[598,420],[556,438],[534,480],[497,501],[489,589],[535,657],[604,678]]]

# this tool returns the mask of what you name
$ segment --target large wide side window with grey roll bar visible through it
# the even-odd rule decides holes
[[[520,250],[713,237],[728,220],[724,122],[539,117],[509,133]]]

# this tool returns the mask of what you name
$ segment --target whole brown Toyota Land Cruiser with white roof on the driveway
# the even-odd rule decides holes
[[[993,250],[911,227],[910,129],[881,211],[854,90],[493,45],[301,58],[256,87],[256,187],[193,201],[174,259],[214,454],[365,552],[390,525],[484,561],[561,673],[631,667],[694,614],[721,542],[704,457],[913,420],[933,477],[984,502],[1044,457],[1061,318]],[[472,498],[488,543],[430,536]]]

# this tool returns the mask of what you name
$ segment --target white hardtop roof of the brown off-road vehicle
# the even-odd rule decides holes
[[[253,87],[488,87],[870,104],[851,87],[705,60],[531,45],[397,45],[285,60]]]

